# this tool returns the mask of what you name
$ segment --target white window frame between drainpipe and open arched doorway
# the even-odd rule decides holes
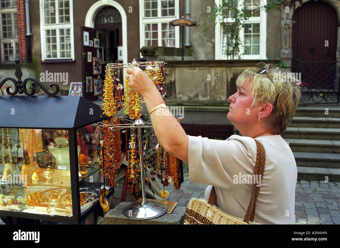
[[[73,0],[69,0],[70,2],[70,23],[65,24],[44,24],[45,21],[45,12],[44,12],[44,0],[39,0],[39,8],[40,8],[40,42],[41,42],[41,60],[55,60],[55,59],[72,59],[74,60],[74,31],[73,31]],[[58,0],[56,0],[55,4],[55,20],[59,21],[58,14]],[[45,50],[45,30],[56,30],[56,39],[57,39],[57,53],[60,56],[60,41],[59,41],[59,30],[60,29],[70,29],[70,42],[71,42],[71,57],[70,58],[47,58],[46,50]],[[83,35],[83,34],[82,34]]]

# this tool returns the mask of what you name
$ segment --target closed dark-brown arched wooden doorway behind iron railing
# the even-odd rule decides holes
[[[338,26],[335,9],[324,1],[295,10],[292,69],[301,73],[304,103],[339,102]]]

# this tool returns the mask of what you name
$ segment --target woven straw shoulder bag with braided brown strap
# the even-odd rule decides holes
[[[256,143],[256,162],[254,175],[263,176],[265,170],[266,151],[261,142],[255,140]],[[253,190],[250,197],[247,211],[245,212],[243,220],[235,217],[231,214],[224,212],[222,209],[217,207],[217,196],[215,186],[212,186],[209,200],[202,198],[192,198],[189,201],[188,206],[185,209],[184,225],[196,225],[196,224],[233,224],[233,225],[248,225],[248,224],[259,224],[254,222],[255,207],[258,192],[260,187],[256,187],[256,182],[253,182]],[[255,203],[252,208],[253,195],[255,194]]]

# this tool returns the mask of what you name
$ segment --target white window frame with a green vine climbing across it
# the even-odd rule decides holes
[[[220,5],[222,0],[215,0],[215,4]],[[267,0],[260,0],[260,6],[267,3]],[[238,0],[238,6],[242,7],[244,4],[243,0]],[[233,22],[234,18],[224,18],[224,22]],[[241,55],[241,59],[268,59],[266,54],[266,43],[267,43],[267,13],[265,10],[260,10],[259,17],[250,17],[245,24],[248,23],[260,23],[260,54],[256,55]],[[222,23],[217,21],[215,25],[215,59],[228,59],[227,56],[222,55],[222,39],[223,39],[223,28]],[[240,42],[244,44],[244,29],[240,30]],[[244,53],[243,46],[240,46],[240,54]],[[230,59],[230,58],[229,58]],[[235,56],[234,59],[239,59]]]

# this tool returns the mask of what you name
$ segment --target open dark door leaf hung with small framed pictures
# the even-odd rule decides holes
[[[84,35],[85,32],[85,35]],[[87,33],[88,32],[88,36]],[[94,101],[98,99],[95,96],[94,89],[94,79],[98,78],[100,75],[94,75],[93,69],[93,57],[97,57],[97,48],[95,48],[96,29],[81,27],[81,37],[82,37],[82,75],[83,75],[83,97],[89,101]],[[85,41],[84,37],[88,38],[88,42]],[[88,45],[87,45],[88,44]],[[103,70],[103,68],[101,67]],[[90,77],[92,80],[90,81]],[[91,85],[92,84],[92,85]]]

